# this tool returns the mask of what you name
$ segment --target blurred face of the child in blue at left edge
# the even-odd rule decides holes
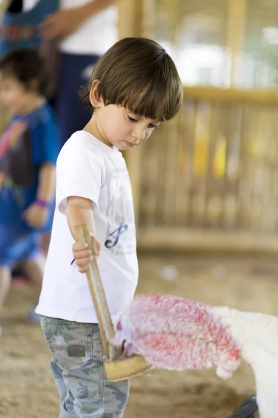
[[[12,75],[0,72],[0,100],[13,114],[24,112],[29,93]]]

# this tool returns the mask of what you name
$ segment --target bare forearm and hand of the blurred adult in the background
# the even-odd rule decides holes
[[[40,24],[42,38],[44,40],[63,40],[74,33],[87,19],[97,15],[117,0],[93,0],[84,6],[59,10],[45,17]]]

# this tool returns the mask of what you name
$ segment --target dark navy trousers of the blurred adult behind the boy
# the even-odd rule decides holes
[[[60,54],[59,77],[54,98],[54,109],[60,130],[61,146],[72,134],[82,130],[92,117],[79,97],[82,87],[90,81],[97,55]]]

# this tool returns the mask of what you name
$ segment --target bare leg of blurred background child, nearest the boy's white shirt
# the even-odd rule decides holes
[[[45,267],[45,257],[43,254],[39,254],[34,258],[24,261],[22,264],[26,275],[34,287],[35,302],[37,303],[40,297],[40,291],[42,290],[42,279]]]

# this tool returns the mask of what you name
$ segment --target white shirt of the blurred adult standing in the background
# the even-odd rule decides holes
[[[23,9],[30,10],[39,0],[24,0]],[[47,0],[46,0],[47,1]],[[60,0],[60,10],[75,8],[92,0]],[[117,6],[89,16],[83,24],[60,43],[66,54],[102,55],[117,42]]]

